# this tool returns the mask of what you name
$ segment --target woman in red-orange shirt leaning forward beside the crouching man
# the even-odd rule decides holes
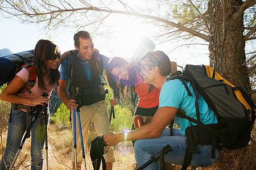
[[[172,62],[172,73],[177,71],[176,63]],[[138,94],[139,101],[134,116],[141,115],[144,122],[151,122],[159,105],[160,90],[151,84],[144,84],[143,77],[139,75],[141,66],[135,59],[131,62],[121,57],[113,57],[106,69],[105,78],[112,90],[114,97],[110,99],[110,105],[117,103],[119,91],[123,93],[125,87],[134,87],[134,92]],[[131,130],[134,130],[134,124]],[[133,141],[134,143],[134,141]]]

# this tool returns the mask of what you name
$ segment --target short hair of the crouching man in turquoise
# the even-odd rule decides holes
[[[142,60],[146,59],[147,65],[150,70],[155,66],[159,68],[159,73],[162,76],[167,76],[171,74],[171,61],[169,57],[162,51],[155,51],[147,53]]]

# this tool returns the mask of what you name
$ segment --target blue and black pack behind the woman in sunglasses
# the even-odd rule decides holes
[[[34,50],[0,57],[0,86],[9,83],[21,70],[21,67],[27,63],[32,63],[33,59]]]

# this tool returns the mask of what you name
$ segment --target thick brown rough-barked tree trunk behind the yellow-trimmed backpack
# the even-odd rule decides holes
[[[224,2],[222,4],[221,2]],[[225,4],[226,3],[226,4]],[[245,63],[243,16],[234,20],[233,15],[242,5],[241,0],[210,0],[209,58],[210,66],[235,86],[251,89]]]

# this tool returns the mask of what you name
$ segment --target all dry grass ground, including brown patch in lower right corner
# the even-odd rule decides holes
[[[256,148],[255,148],[255,127],[252,133],[253,141],[245,148],[238,150],[221,151],[220,157],[216,164],[205,167],[203,169],[256,169]],[[6,145],[6,133],[3,131],[3,146]],[[95,134],[90,134],[92,137]],[[94,138],[94,137],[93,137]],[[61,126],[50,124],[48,129],[48,162],[49,169],[72,169],[71,152],[72,152],[72,130],[70,126]],[[91,139],[89,138],[89,141]],[[88,142],[89,143],[89,142]],[[131,146],[130,142],[120,143],[124,146]],[[122,147],[124,147],[122,146]],[[89,147],[86,150],[86,167],[93,169],[90,163]],[[1,150],[2,151],[2,150]],[[135,163],[133,148],[125,154],[117,151],[117,146],[114,147],[115,163],[113,169],[133,169]],[[1,152],[2,153],[2,152]],[[122,155],[123,154],[123,155]],[[46,169],[46,151],[44,150],[44,168]],[[84,165],[82,165],[84,166]],[[168,165],[166,169],[180,169],[180,165]],[[190,169],[189,167],[188,169]],[[15,169],[30,169],[30,138],[26,140],[22,151],[15,164]],[[202,169],[201,167],[199,169]]]

